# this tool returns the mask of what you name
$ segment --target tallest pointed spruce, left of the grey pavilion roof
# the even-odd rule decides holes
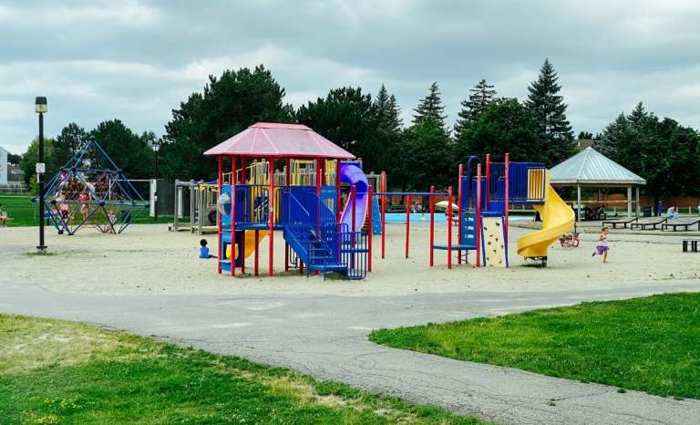
[[[571,143],[571,125],[566,119],[567,105],[557,94],[561,89],[557,84],[558,79],[549,59],[545,59],[540,68],[540,77],[530,84],[530,94],[525,101],[537,124],[548,166],[567,160],[575,152]]]

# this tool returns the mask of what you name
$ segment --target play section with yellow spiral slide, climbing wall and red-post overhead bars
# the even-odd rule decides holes
[[[476,164],[472,176],[471,165]],[[568,233],[574,225],[574,213],[561,200],[549,183],[549,171],[544,164],[510,162],[506,154],[504,162],[491,162],[487,155],[485,174],[478,157],[468,158],[467,175],[459,166],[458,217],[448,214],[447,244],[435,244],[435,199],[447,196],[447,205],[453,205],[453,191],[438,193],[435,188],[425,193],[379,192],[382,198],[382,225],[385,222],[386,196],[407,196],[406,257],[409,253],[409,205],[411,196],[428,196],[430,199],[430,266],[434,264],[434,251],[448,252],[448,269],[452,268],[452,253],[458,252],[458,264],[468,264],[468,253],[474,251],[477,266],[508,267],[509,209],[517,205],[530,205],[542,217],[542,230],[527,234],[518,240],[519,255],[547,264],[550,244]],[[386,174],[382,173],[382,187],[386,188]],[[507,207],[508,206],[508,207]],[[452,226],[458,226],[458,240],[453,244]],[[385,235],[382,234],[382,258],[385,257]]]

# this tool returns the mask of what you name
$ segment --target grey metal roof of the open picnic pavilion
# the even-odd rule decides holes
[[[552,186],[638,186],[646,181],[601,153],[586,148],[550,170]]]

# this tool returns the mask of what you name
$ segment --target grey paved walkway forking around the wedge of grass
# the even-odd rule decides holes
[[[640,283],[633,291],[629,286],[623,290],[611,285],[595,293],[77,295],[6,281],[7,260],[19,253],[3,254],[3,313],[125,329],[504,424],[696,424],[700,418],[700,400],[636,391],[619,394],[602,385],[381,347],[366,340],[377,327],[498,315],[583,300],[700,291],[696,280]],[[557,400],[556,406],[549,406],[551,399]]]

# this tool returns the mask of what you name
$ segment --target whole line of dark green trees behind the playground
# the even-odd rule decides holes
[[[363,159],[365,172],[386,171],[392,189],[427,191],[456,186],[458,164],[468,156],[491,154],[502,161],[544,162],[548,167],[576,153],[567,104],[560,94],[557,73],[546,59],[540,75],[528,87],[528,97],[498,97],[486,79],[468,90],[455,125],[448,128],[438,82],[413,109],[410,123],[400,118],[396,97],[384,85],[376,95],[362,88],[331,89],[324,98],[294,109],[284,103],[285,90],[270,70],[227,70],[210,76],[202,92],[195,92],[172,110],[160,141],[159,176],[170,181],[214,180],[215,158],[203,155],[223,140],[261,121],[304,124],[326,139]],[[137,134],[118,119],[86,131],[68,124],[46,140],[48,174],[65,164],[89,136],[94,136],[130,179],[154,175],[156,140],[151,131]],[[579,139],[595,139],[596,149],[641,175],[654,198],[695,194],[698,133],[673,119],[658,119],[640,104],[630,116],[622,114],[595,137],[582,131]],[[36,140],[20,164],[26,181],[34,170]]]

